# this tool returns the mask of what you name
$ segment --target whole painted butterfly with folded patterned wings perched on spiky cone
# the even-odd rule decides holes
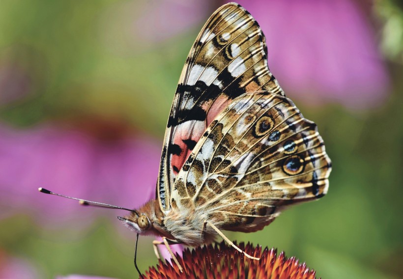
[[[322,197],[330,171],[316,124],[269,71],[259,24],[228,3],[207,20],[183,67],[155,199],[118,219],[137,237],[162,237],[153,242],[157,257],[164,244],[180,270],[171,244],[197,247],[217,235],[259,259],[222,230],[258,231],[289,205]]]

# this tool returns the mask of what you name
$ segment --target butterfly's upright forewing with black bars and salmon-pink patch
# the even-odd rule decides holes
[[[226,4],[207,20],[186,59],[168,120],[156,191],[162,210],[169,209],[177,173],[231,100],[257,90],[284,95],[266,53],[258,23],[240,5]]]

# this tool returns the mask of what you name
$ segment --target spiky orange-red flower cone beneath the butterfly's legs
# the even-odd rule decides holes
[[[235,244],[236,245],[236,244]],[[263,251],[252,244],[238,246],[242,251],[260,257],[259,261],[246,258],[244,254],[226,245],[208,245],[193,251],[186,249],[183,257],[177,258],[183,267],[183,273],[173,263],[159,262],[151,267],[144,278],[261,278],[261,279],[316,279],[316,272],[309,270],[305,263],[299,263],[295,257],[286,257],[284,252],[277,255],[276,249]]]

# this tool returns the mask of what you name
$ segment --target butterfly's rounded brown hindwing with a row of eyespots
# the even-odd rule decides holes
[[[173,206],[196,208],[218,227],[256,231],[285,206],[327,193],[331,162],[315,123],[267,91],[234,99],[179,172]]]

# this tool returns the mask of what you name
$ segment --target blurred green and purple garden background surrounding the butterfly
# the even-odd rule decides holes
[[[0,0],[0,278],[137,276],[124,212],[37,188],[129,208],[152,197],[183,63],[223,3]],[[324,198],[227,235],[322,278],[402,278],[402,2],[240,3],[333,171]],[[140,238],[142,270],[157,262],[151,241]]]

